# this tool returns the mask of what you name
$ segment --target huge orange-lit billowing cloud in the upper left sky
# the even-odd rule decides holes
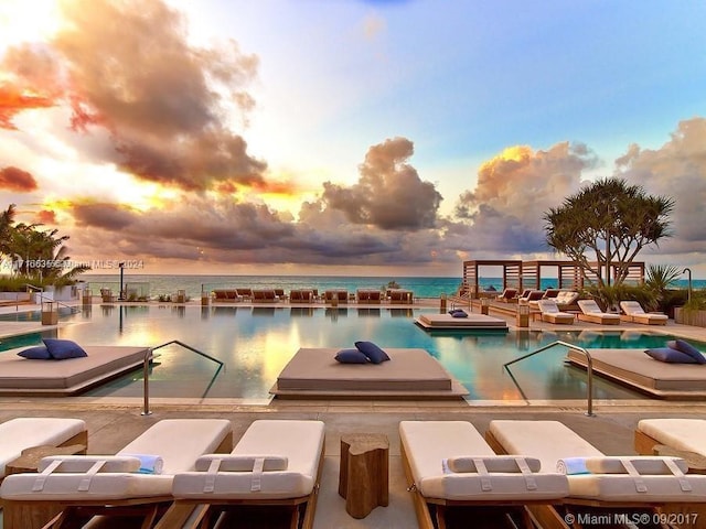
[[[61,100],[74,130],[109,131],[114,149],[95,154],[139,179],[190,191],[263,182],[267,164],[248,154],[228,121],[254,107],[246,87],[256,56],[235,41],[191,46],[185,20],[161,0],[61,6],[65,24],[49,47],[24,45],[3,57],[14,85],[0,89],[0,126],[12,126],[23,108]]]

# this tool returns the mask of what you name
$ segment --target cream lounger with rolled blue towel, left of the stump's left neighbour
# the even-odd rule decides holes
[[[4,527],[62,527],[96,514],[139,517],[143,528],[151,527],[173,500],[173,475],[193,469],[203,454],[227,452],[232,446],[227,420],[168,419],[116,455],[45,457],[39,474],[14,474],[0,485]],[[136,456],[160,456],[161,473],[140,473],[142,463]],[[49,518],[38,519],[38,511]],[[9,526],[8,520],[13,522]]]

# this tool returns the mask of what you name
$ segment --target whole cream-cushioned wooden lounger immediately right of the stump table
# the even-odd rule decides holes
[[[402,421],[399,438],[422,528],[446,527],[456,507],[520,509],[517,521],[534,527],[521,507],[560,501],[568,493],[566,476],[538,474],[537,460],[498,456],[470,422]]]

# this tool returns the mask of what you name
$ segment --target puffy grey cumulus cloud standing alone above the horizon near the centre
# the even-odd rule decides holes
[[[371,147],[359,168],[359,182],[350,187],[325,182],[323,202],[353,224],[392,230],[434,227],[441,195],[406,163],[413,154],[414,144],[406,138]]]

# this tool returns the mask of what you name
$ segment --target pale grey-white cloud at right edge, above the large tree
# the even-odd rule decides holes
[[[670,141],[660,149],[629,147],[616,160],[616,175],[638,184],[649,194],[672,197],[674,237],[660,242],[662,251],[702,251],[706,224],[700,212],[706,204],[706,119],[681,121]]]

